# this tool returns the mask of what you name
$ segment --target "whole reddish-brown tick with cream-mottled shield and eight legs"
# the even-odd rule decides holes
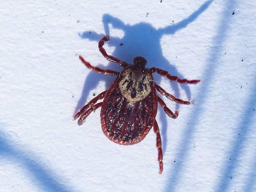
[[[166,107],[164,101],[157,95],[156,90],[171,101],[179,104],[190,105],[189,101],[177,99],[170,93],[154,82],[152,73],[157,72],[171,81],[179,83],[196,84],[200,80],[179,79],[171,76],[167,71],[158,68],[145,68],[147,60],[143,57],[135,57],[133,65],[128,65],[125,61],[108,55],[103,48],[104,42],[109,41],[108,36],[100,39],[98,47],[101,54],[108,60],[119,64],[123,67],[121,72],[109,69],[100,69],[90,65],[79,55],[80,60],[89,69],[105,75],[117,76],[111,87],[98,94],[89,101],[76,115],[78,125],[84,123],[85,118],[94,110],[101,107],[100,118],[103,133],[111,141],[120,145],[133,145],[139,143],[145,138],[153,126],[156,133],[156,147],[158,148],[158,161],[160,165],[159,173],[163,172],[163,153],[161,149],[161,137],[155,117],[158,102],[166,114],[175,119],[179,115],[178,111],[174,113]],[[103,99],[103,102],[96,102]]]

